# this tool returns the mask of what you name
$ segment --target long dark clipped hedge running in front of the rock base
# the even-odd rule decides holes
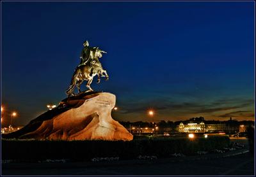
[[[69,159],[91,160],[95,157],[135,159],[139,155],[170,157],[173,153],[193,155],[227,147],[226,136],[195,138],[134,139],[132,141],[39,141],[2,139],[2,160]]]

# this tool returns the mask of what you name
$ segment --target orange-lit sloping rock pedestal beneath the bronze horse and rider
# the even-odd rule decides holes
[[[131,141],[132,134],[111,117],[115,101],[115,95],[106,92],[68,97],[58,107],[3,138]]]

